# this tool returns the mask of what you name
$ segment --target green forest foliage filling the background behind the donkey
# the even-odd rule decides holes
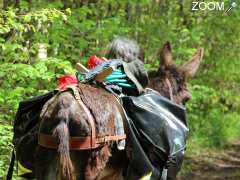
[[[72,65],[90,55],[102,56],[116,36],[140,43],[147,69],[159,66],[158,50],[167,40],[178,64],[204,47],[200,72],[189,83],[190,142],[221,146],[240,137],[239,9],[193,12],[189,0],[62,2],[20,1],[17,9],[0,10],[0,177],[19,101],[54,89],[60,74],[74,73]],[[37,58],[40,44],[47,59]]]

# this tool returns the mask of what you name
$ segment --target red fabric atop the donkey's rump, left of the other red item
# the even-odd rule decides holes
[[[78,80],[74,75],[62,75],[58,78],[58,89],[64,90],[68,85],[77,85]]]

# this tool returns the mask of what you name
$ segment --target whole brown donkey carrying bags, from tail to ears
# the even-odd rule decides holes
[[[171,45],[160,50],[160,68],[150,73],[149,87],[178,104],[190,98],[186,79],[196,73],[203,56],[198,49],[193,58],[181,67],[174,65]],[[81,99],[94,118],[96,134],[114,134],[114,118],[121,113],[115,98],[104,89],[80,84]],[[124,151],[105,143],[92,150],[70,150],[71,137],[91,136],[89,116],[71,91],[50,99],[43,107],[39,133],[53,135],[58,141],[56,149],[39,146],[36,152],[36,178],[38,180],[95,180],[122,179],[127,163]]]

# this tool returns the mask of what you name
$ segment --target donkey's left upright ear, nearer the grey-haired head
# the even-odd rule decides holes
[[[172,64],[172,47],[170,42],[166,42],[159,51],[160,65],[169,66]]]

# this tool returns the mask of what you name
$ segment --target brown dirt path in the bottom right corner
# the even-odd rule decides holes
[[[187,157],[184,169],[187,173],[178,180],[240,180],[240,141],[226,145],[217,153]]]

